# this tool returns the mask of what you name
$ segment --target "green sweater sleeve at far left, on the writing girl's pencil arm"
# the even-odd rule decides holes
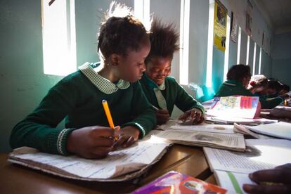
[[[72,110],[77,89],[60,81],[48,91],[39,106],[12,130],[11,148],[29,146],[46,153],[66,154],[67,136],[75,129],[56,128]]]

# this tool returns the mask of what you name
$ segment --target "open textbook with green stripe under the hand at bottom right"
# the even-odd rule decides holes
[[[252,183],[248,174],[291,162],[291,141],[247,139],[246,144],[245,153],[203,148],[217,183],[229,193],[244,193],[243,184]]]

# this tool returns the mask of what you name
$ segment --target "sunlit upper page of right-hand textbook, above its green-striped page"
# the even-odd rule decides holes
[[[291,162],[291,141],[283,139],[247,139],[247,151],[238,153],[203,148],[210,168],[249,174]]]

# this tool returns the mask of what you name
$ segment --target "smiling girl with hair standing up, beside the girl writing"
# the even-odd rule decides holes
[[[187,120],[191,124],[204,120],[203,106],[195,101],[174,77],[169,77],[174,52],[179,50],[178,39],[179,34],[174,30],[173,24],[153,21],[150,53],[145,60],[146,70],[140,82],[148,101],[159,108],[155,110],[157,124],[169,120],[174,105],[184,112],[179,119]]]

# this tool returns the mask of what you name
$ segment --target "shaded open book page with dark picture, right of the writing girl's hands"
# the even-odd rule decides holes
[[[245,138],[242,134],[219,134],[204,131],[184,131],[171,129],[158,131],[151,137],[183,145],[209,146],[226,150],[245,150]]]

